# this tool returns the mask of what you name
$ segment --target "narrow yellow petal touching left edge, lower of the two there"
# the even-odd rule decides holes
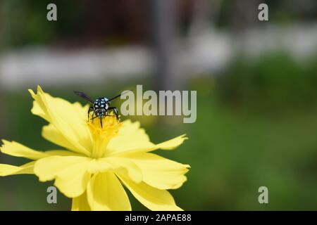
[[[33,174],[35,161],[27,162],[25,165],[16,167],[13,165],[0,164],[0,176],[8,176],[14,174]]]

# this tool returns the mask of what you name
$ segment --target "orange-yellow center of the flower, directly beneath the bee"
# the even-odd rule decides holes
[[[99,118],[87,122],[93,139],[92,158],[104,157],[109,141],[118,134],[121,126],[113,115],[106,116],[101,121],[102,127]]]

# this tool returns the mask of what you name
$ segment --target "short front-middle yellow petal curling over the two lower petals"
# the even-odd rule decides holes
[[[101,158],[89,163],[88,171],[92,174],[97,172],[114,172],[123,176],[128,176],[137,183],[142,181],[142,171],[128,158]]]

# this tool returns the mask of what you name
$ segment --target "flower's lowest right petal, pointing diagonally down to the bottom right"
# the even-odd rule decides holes
[[[132,195],[149,210],[154,211],[179,211],[182,210],[175,204],[173,196],[166,190],[151,187],[144,182],[136,184],[125,176],[119,176],[123,184],[131,191]]]

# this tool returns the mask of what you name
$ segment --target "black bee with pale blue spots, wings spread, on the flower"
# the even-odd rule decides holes
[[[91,112],[92,113],[92,118],[90,118],[90,120],[94,120],[95,118],[99,117],[100,120],[100,124],[102,127],[102,118],[108,116],[109,112],[113,112],[116,115],[117,120],[119,120],[119,116],[118,116],[118,109],[116,107],[110,107],[111,105],[111,101],[115,98],[120,97],[122,94],[118,94],[118,96],[114,96],[113,98],[97,98],[95,101],[92,101],[92,98],[90,98],[89,96],[87,96],[87,94],[81,92],[81,91],[74,91],[75,94],[77,94],[77,96],[80,96],[82,98],[84,98],[85,100],[89,101],[90,103],[92,103],[92,105],[89,107],[88,109],[88,121],[89,121],[89,115]]]

